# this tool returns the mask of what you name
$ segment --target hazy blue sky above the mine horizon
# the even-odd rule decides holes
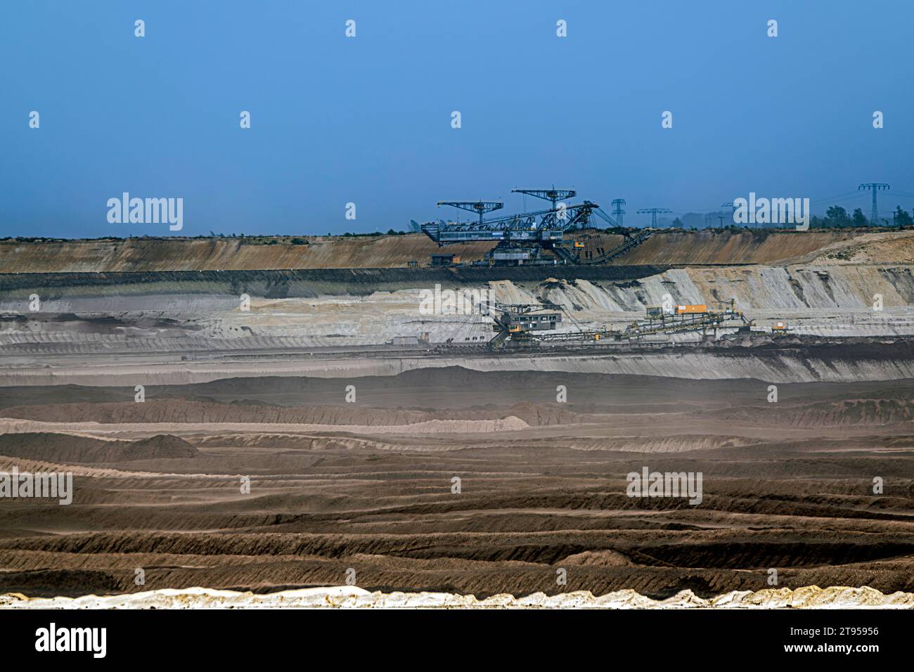
[[[405,229],[452,215],[441,199],[502,199],[507,213],[524,207],[512,187],[553,184],[607,210],[626,198],[632,224],[649,220],[637,208],[707,212],[749,191],[816,202],[865,181],[892,185],[884,212],[914,208],[898,193],[914,193],[908,0],[0,12],[0,236],[176,235],[109,223],[124,191],[183,197],[192,236]],[[869,211],[863,192],[840,204]]]

